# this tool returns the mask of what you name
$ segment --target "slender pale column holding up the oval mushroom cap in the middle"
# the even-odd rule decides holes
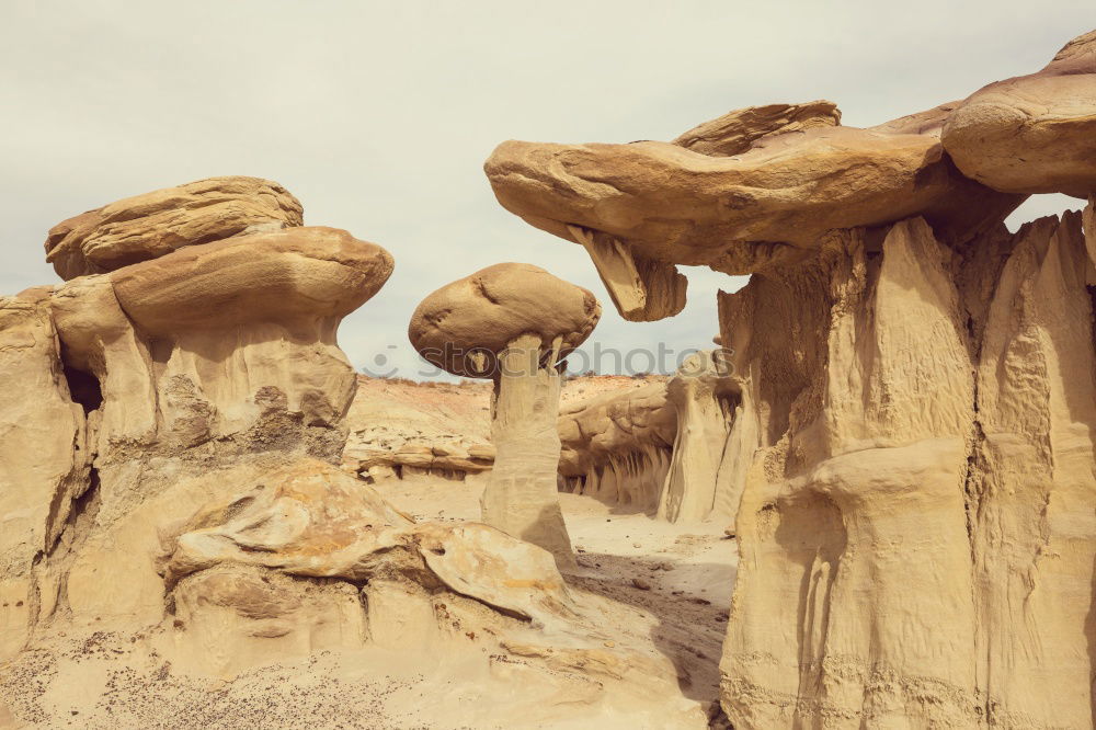
[[[556,486],[559,346],[557,339],[547,366],[540,364],[541,342],[536,334],[522,334],[499,355],[491,395],[491,441],[496,452],[480,506],[484,523],[543,547],[560,568],[573,568]]]

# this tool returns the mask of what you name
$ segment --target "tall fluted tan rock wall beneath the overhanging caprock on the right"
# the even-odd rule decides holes
[[[721,301],[744,402],[765,404],[734,425],[761,448],[743,476],[724,707],[744,727],[1089,727],[1080,216],[960,251],[906,221],[875,264],[866,240],[841,233],[820,261]],[[770,335],[792,323],[797,338]]]

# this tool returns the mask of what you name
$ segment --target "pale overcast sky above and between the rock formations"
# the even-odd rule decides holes
[[[307,225],[392,252],[396,273],[340,342],[357,367],[407,377],[423,367],[406,334],[419,300],[500,261],[592,289],[605,313],[591,342],[603,349],[710,346],[715,292],[745,282],[683,269],[684,312],[625,322],[580,247],[498,205],[482,172],[498,142],[672,139],[732,109],[813,99],[866,126],[1035,71],[1096,26],[1094,0],[0,9],[0,293],[57,281],[42,243],[64,218],[210,175],[270,178],[301,201]],[[1039,196],[1014,220],[1078,203]]]

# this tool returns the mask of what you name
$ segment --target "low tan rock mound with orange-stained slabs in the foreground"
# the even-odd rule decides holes
[[[657,619],[564,585],[539,548],[475,523],[412,523],[292,455],[150,467],[159,493],[70,535],[76,569],[95,572],[68,577],[65,603],[3,665],[14,717],[242,728],[252,696],[286,727],[705,727],[649,636]]]

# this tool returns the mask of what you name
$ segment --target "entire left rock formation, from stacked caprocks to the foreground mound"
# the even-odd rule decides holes
[[[236,212],[292,196],[222,180],[222,210],[191,205],[209,184],[88,214],[111,223],[60,250],[110,271],[0,299],[0,721],[253,722],[251,700],[203,715],[213,682],[265,693],[263,717],[293,726],[310,721],[299,696],[356,676],[317,711],[374,722],[365,699],[395,672],[455,683],[453,702],[484,708],[461,716],[477,723],[518,722],[530,703],[537,721],[701,723],[684,698],[649,699],[673,695],[673,664],[551,554],[483,524],[416,523],[336,466],[356,388],[336,330],[392,259],[296,225],[299,206],[237,229]],[[126,230],[172,244],[104,263]],[[488,707],[515,675],[527,693]]]

